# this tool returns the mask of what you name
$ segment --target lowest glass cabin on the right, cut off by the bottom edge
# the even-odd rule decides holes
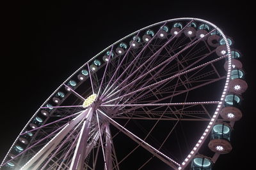
[[[190,169],[191,170],[211,170],[212,161],[208,157],[205,157],[203,155],[198,155],[191,161]]]

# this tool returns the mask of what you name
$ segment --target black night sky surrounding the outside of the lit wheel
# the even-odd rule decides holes
[[[221,155],[214,169],[246,169],[255,162],[255,10],[252,4],[235,1],[225,1],[225,4],[223,1],[41,2],[22,1],[2,6],[6,8],[1,22],[4,28],[1,161],[38,107],[88,59],[147,25],[170,18],[197,17],[216,24],[234,39],[234,47],[243,53],[249,86],[243,94],[243,118],[234,127],[234,149]]]

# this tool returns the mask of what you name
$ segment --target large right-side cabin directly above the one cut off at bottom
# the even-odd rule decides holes
[[[227,124],[216,124],[212,128],[209,148],[216,153],[229,153],[232,150],[230,144],[231,127]]]

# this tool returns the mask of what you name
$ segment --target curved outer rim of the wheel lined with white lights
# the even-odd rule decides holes
[[[88,65],[89,62],[91,62],[93,59],[96,59],[100,54],[106,52],[106,50],[108,50],[109,48],[111,48],[111,46],[113,47],[113,45],[116,45],[117,43],[120,43],[121,41],[123,41],[124,39],[126,38],[129,38],[130,36],[138,33],[139,31],[143,31],[145,29],[148,29],[152,26],[155,26],[155,25],[160,25],[160,24],[163,24],[164,22],[175,22],[175,21],[179,21],[179,20],[195,20],[195,21],[198,21],[198,22],[204,22],[204,23],[207,23],[209,25],[211,25],[212,27],[214,27],[214,29],[217,29],[221,36],[223,36],[224,40],[225,40],[225,43],[226,43],[226,46],[227,46],[227,50],[228,50],[228,54],[227,54],[227,58],[228,58],[228,71],[227,71],[227,79],[226,79],[226,83],[225,83],[225,87],[223,89],[223,92],[222,92],[222,95],[221,95],[221,100],[219,101],[218,103],[218,106],[216,108],[216,111],[214,112],[214,115],[216,117],[212,118],[213,120],[211,121],[211,126],[208,128],[207,127],[207,132],[206,134],[204,135],[204,139],[207,137],[207,135],[209,134],[209,132],[211,132],[211,129],[212,129],[212,125],[214,125],[214,122],[216,121],[216,119],[218,118],[218,115],[220,115],[220,108],[221,106],[223,105],[223,99],[225,98],[225,95],[227,94],[227,87],[228,87],[228,83],[229,83],[229,77],[230,77],[230,62],[231,62],[231,55],[230,55],[230,46],[228,45],[228,41],[227,41],[227,38],[225,36],[225,34],[223,34],[223,32],[218,28],[216,27],[216,25],[212,24],[211,22],[208,22],[207,20],[202,20],[200,18],[174,18],[174,19],[170,19],[170,20],[164,20],[164,21],[161,21],[161,22],[157,22],[156,24],[152,24],[152,25],[148,25],[147,27],[143,27],[142,29],[139,29],[138,31],[134,31],[132,32],[131,34],[125,36],[124,38],[122,39],[119,39],[118,41],[116,41],[115,43],[109,45],[107,48],[105,48],[104,50],[102,50],[101,52],[97,53],[97,55],[95,55],[94,57],[92,57],[92,59],[88,60],[85,64],[83,64],[83,66],[79,67],[79,69],[77,69],[76,71],[74,71],[74,73],[72,73],[65,81],[63,81],[63,83],[61,83],[61,85],[56,89],[54,90],[54,92],[52,92],[52,94],[44,101],[44,103],[42,104],[42,106],[40,106],[40,108],[38,108],[38,110],[36,110],[36,112],[34,113],[34,115],[30,118],[30,120],[28,121],[28,123],[24,126],[24,128],[22,129],[22,131],[20,132],[20,134],[17,136],[17,138],[15,139],[15,141],[13,142],[12,146],[10,147],[10,150],[12,150],[13,146],[15,145],[15,143],[17,142],[17,140],[19,139],[19,137],[21,136],[21,134],[24,132],[24,130],[26,129],[26,127],[28,127],[29,125],[29,122],[31,122],[31,120],[33,120],[33,118],[36,117],[36,115],[38,114],[38,112],[41,110],[41,108],[51,99],[52,96],[54,96],[54,94],[56,94],[56,92],[58,92],[58,90],[60,90],[61,87],[63,87],[63,85],[65,85],[65,83],[67,83],[68,80],[70,80],[70,78],[72,78],[72,76],[74,76],[74,74],[76,74],[78,71],[80,71],[84,66],[86,66],[86,64]],[[206,129],[205,129],[206,130]],[[201,136],[202,138],[202,136]],[[199,140],[200,141],[200,140]],[[196,152],[196,150],[198,150],[200,148],[200,146],[202,145],[202,143],[204,143],[204,141],[200,142],[200,143],[196,143],[199,144],[198,146],[195,146],[195,148],[193,148],[194,150],[194,153]],[[8,151],[8,153],[10,152],[10,150]],[[193,151],[192,150],[192,151]],[[192,152],[191,151],[191,152]],[[4,163],[4,160],[6,159],[8,153],[6,154],[6,156],[4,157],[3,159],[3,162],[1,163],[1,166],[2,164]],[[184,160],[184,162],[182,162],[182,164],[180,165],[179,169],[184,169],[184,167],[187,166],[187,162],[190,162],[190,160],[193,158],[193,153],[189,153],[189,155],[186,157],[186,159]]]

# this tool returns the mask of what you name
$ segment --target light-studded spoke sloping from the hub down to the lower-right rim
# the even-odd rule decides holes
[[[100,111],[100,110],[98,110]],[[108,117],[108,115],[106,115],[104,112],[100,111],[100,113],[102,113],[102,115],[104,115],[105,117],[107,117],[109,119],[109,122],[114,125],[117,129],[119,129],[120,131],[122,131],[124,134],[126,134],[129,138],[131,138],[133,141],[135,141],[136,143],[140,144],[143,148],[145,148],[146,150],[148,150],[148,152],[152,153],[153,155],[155,155],[157,158],[159,158],[160,160],[162,160],[164,163],[168,164],[168,166],[173,167],[175,169],[177,169],[177,166],[179,166],[179,164],[177,162],[175,162],[175,160],[170,159],[170,157],[168,157],[167,155],[164,155],[164,153],[160,152],[159,150],[157,150],[156,148],[154,148],[153,146],[149,145],[148,143],[146,143],[145,141],[143,141],[142,139],[140,139],[138,136],[136,136],[135,134],[132,134],[132,132],[128,131],[127,129],[125,129],[125,127],[123,127],[122,125],[118,124],[117,122],[115,122],[115,120],[113,120],[112,118]]]

